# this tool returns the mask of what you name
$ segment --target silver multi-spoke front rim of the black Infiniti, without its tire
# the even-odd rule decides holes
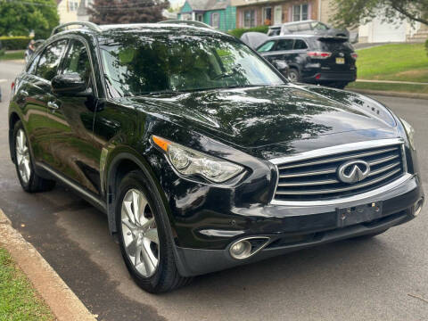
[[[120,217],[128,259],[142,276],[152,276],[159,265],[159,236],[144,193],[130,189],[123,198]]]

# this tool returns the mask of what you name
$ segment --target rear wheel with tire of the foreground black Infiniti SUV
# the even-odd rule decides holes
[[[37,193],[53,189],[56,182],[39,177],[35,171],[31,152],[29,152],[29,140],[21,120],[17,121],[13,128],[12,151],[16,174],[25,192]]]

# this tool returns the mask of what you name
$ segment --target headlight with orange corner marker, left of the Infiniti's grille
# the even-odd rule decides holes
[[[152,140],[167,153],[174,169],[182,175],[200,175],[212,182],[223,183],[243,171],[242,166],[169,142],[160,136],[153,135]]]

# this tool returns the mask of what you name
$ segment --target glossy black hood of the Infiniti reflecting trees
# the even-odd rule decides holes
[[[319,86],[254,86],[122,100],[244,149],[396,125],[380,103]]]

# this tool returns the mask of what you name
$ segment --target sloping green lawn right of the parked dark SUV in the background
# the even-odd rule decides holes
[[[424,44],[380,45],[358,50],[357,67],[360,79],[428,83],[428,55]]]

